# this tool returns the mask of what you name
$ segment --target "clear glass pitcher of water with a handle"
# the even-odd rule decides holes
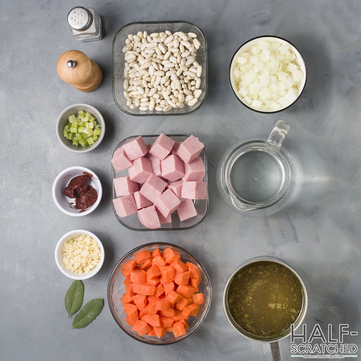
[[[290,126],[279,120],[267,141],[248,140],[222,157],[217,185],[226,203],[244,216],[264,217],[280,210],[294,188],[295,170],[281,147]]]

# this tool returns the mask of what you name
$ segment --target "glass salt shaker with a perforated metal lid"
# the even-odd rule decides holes
[[[76,6],[69,11],[68,23],[71,35],[75,36],[78,42],[89,42],[102,38],[100,16],[94,9]]]

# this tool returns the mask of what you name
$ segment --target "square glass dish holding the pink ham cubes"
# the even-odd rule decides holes
[[[169,138],[178,141],[178,142],[183,142],[184,140],[186,140],[189,135],[184,135],[184,134],[166,134],[167,136],[169,136]],[[118,145],[117,147],[114,149],[114,152],[121,147],[124,143],[129,142],[130,140],[133,140],[135,138],[137,138],[139,135],[133,135],[130,136],[126,139],[123,139]],[[144,139],[145,144],[152,144],[155,142],[155,140],[158,138],[159,135],[142,135],[142,138]],[[114,154],[113,152],[113,154]],[[138,216],[136,213],[131,214],[130,216],[127,217],[119,217],[115,211],[114,205],[113,205],[113,209],[114,209],[114,214],[117,217],[118,221],[124,226],[127,227],[128,229],[131,229],[132,231],[179,231],[179,230],[185,230],[185,229],[191,229],[197,225],[199,225],[200,222],[203,221],[206,213],[207,213],[207,209],[208,209],[208,177],[207,177],[207,156],[205,153],[205,150],[203,149],[202,152],[200,153],[199,157],[201,157],[201,160],[204,164],[204,177],[203,177],[203,182],[207,182],[207,199],[195,199],[193,200],[193,204],[195,206],[195,209],[197,211],[197,216],[194,216],[192,218],[188,218],[184,221],[181,221],[178,217],[178,214],[176,214],[177,211],[173,212],[171,214],[172,217],[172,222],[171,223],[165,223],[160,225],[160,228],[156,228],[156,229],[150,229],[145,227],[144,225],[142,225],[142,223],[140,223]],[[112,174],[113,174],[113,179],[114,178],[118,178],[118,177],[125,177],[128,175],[128,170],[125,169],[119,173],[116,173],[114,167],[112,166]],[[114,188],[114,182],[113,182],[113,199],[116,199],[116,193],[115,193],[115,188]]]

